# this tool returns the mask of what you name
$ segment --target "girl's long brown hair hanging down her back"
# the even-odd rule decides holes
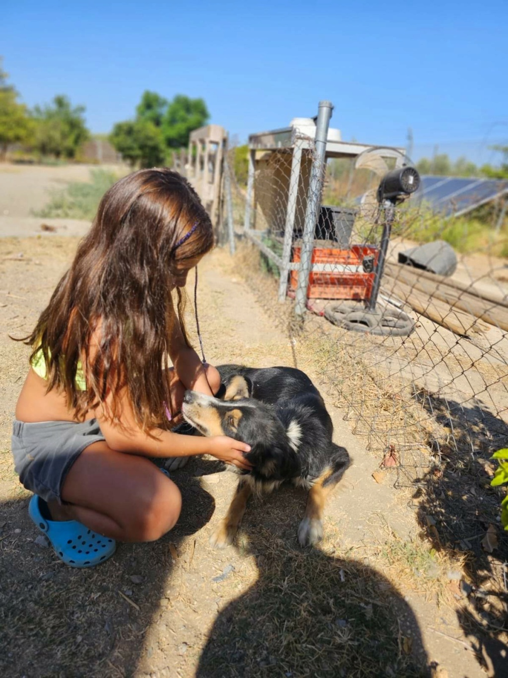
[[[192,233],[190,233],[192,231]],[[189,235],[190,233],[190,235]],[[186,237],[188,236],[188,237]],[[102,198],[72,266],[58,283],[32,334],[30,360],[41,350],[47,391],[64,391],[77,418],[127,388],[144,431],[169,426],[169,340],[177,319],[184,338],[185,293],[171,288],[186,268],[213,246],[209,216],[190,184],[169,169],[140,169]],[[100,323],[98,350],[90,340]],[[75,384],[81,357],[87,390]]]

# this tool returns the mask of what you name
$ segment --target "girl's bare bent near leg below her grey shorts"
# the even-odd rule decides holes
[[[148,459],[89,445],[72,464],[62,500],[49,503],[55,520],[77,520],[90,530],[123,542],[150,542],[169,532],[182,496]]]

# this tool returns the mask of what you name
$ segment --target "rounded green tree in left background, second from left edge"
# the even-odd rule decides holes
[[[35,148],[41,155],[73,158],[89,138],[83,114],[85,106],[71,107],[68,98],[56,96],[49,106],[35,106]]]

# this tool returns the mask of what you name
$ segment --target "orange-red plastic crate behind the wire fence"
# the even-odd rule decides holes
[[[371,298],[374,273],[364,273],[362,262],[366,256],[374,256],[377,265],[376,247],[352,245],[350,250],[337,250],[335,247],[314,247],[313,264],[329,264],[331,271],[312,272],[309,276],[307,297],[309,299],[354,299]],[[293,262],[299,262],[301,247],[293,247]],[[360,271],[343,271],[344,266],[359,266]],[[291,289],[296,290],[298,271],[291,271]]]

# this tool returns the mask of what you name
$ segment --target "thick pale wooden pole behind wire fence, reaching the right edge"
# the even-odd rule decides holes
[[[450,308],[460,309],[481,318],[490,325],[508,331],[508,308],[506,306],[492,300],[482,299],[469,292],[463,292],[458,287],[450,285],[449,281],[448,283],[436,282],[434,279],[429,279],[428,274],[422,276],[421,273],[425,272],[398,264],[389,264],[385,268],[385,276],[408,285],[412,290],[424,292],[429,297],[449,304]]]

